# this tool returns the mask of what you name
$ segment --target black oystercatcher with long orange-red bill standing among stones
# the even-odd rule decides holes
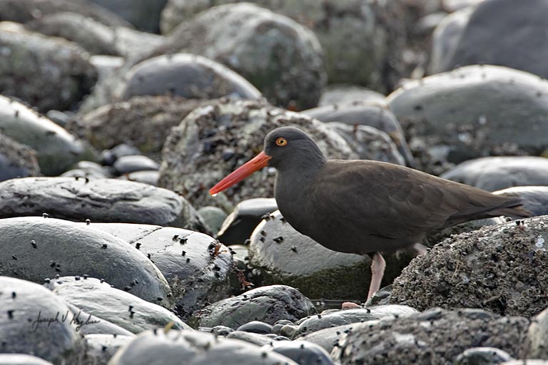
[[[209,192],[215,195],[266,165],[277,169],[276,202],[295,230],[330,250],[372,257],[368,298],[385,272],[380,252],[421,251],[428,232],[469,220],[529,216],[519,197],[391,163],[326,160],[314,140],[294,127],[268,133],[263,152]]]

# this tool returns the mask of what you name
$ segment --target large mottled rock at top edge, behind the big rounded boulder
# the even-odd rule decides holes
[[[162,31],[176,32],[173,29],[181,21],[192,19],[199,11],[233,2],[236,1],[169,0],[162,14]],[[359,83],[390,91],[399,80],[406,37],[403,19],[407,18],[403,1],[255,0],[253,3],[288,16],[313,31],[325,52],[330,83]],[[364,43],[363,39],[375,41]]]

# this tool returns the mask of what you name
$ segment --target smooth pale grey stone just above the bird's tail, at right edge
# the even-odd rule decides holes
[[[534,156],[477,158],[460,163],[441,177],[489,191],[548,185],[548,159]]]

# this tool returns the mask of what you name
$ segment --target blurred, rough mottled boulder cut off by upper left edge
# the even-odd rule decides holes
[[[88,53],[61,38],[1,29],[0,48],[0,92],[21,98],[43,112],[76,108],[97,81]],[[28,77],[46,64],[48,72]],[[25,80],[22,85],[21,80]]]

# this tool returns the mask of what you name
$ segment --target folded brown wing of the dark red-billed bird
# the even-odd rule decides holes
[[[465,221],[494,202],[507,202],[492,202],[493,195],[474,187],[367,160],[329,161],[313,190],[318,220],[336,217],[370,235],[395,239],[442,228],[452,216]]]

